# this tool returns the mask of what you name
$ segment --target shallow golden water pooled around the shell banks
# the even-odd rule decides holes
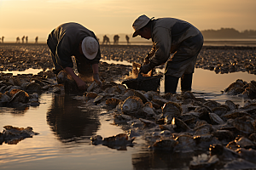
[[[236,79],[250,82],[255,80],[255,75],[247,72],[216,74],[195,69],[193,92],[197,97],[219,103],[231,99],[243,105],[244,99],[221,93]],[[161,81],[161,93],[163,83]],[[180,93],[179,88],[178,84],[177,93]],[[112,117],[105,115],[104,109],[84,107],[83,100],[58,94],[42,94],[40,103],[26,111],[0,107],[1,132],[3,126],[12,125],[33,127],[34,132],[40,133],[18,144],[0,145],[1,169],[189,169],[189,161],[196,155],[150,151],[140,138],[126,150],[92,145],[90,136],[93,134],[105,138],[124,133],[121,127],[111,124]]]

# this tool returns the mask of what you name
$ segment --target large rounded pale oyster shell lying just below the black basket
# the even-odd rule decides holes
[[[125,99],[122,105],[122,111],[125,114],[131,114],[139,111],[142,107],[143,107],[142,99],[138,98],[137,96],[130,96],[129,98]]]

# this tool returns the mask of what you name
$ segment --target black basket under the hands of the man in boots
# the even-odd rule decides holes
[[[126,80],[122,82],[127,88],[143,91],[158,91],[160,88],[160,80],[162,76],[154,77],[138,77],[136,79]]]

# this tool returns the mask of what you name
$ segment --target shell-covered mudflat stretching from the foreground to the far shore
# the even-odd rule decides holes
[[[127,60],[142,63],[148,46],[102,46],[102,59]],[[48,48],[38,46],[0,46],[1,71],[40,68],[38,75],[1,73],[0,105],[29,107],[40,105],[42,93],[67,94],[67,84],[57,84]],[[255,49],[241,47],[204,47],[196,67],[229,73],[247,71],[255,73]],[[36,61],[36,62],[35,62]],[[49,71],[46,71],[49,69]],[[107,110],[114,125],[123,127],[125,133],[102,139],[92,136],[92,144],[125,150],[143,138],[148,150],[169,153],[201,152],[189,163],[191,169],[256,168],[256,83],[237,80],[223,90],[227,95],[241,94],[245,105],[226,100],[221,105],[210,99],[196,98],[191,92],[160,94],[127,88],[113,82],[131,74],[129,65],[100,64],[102,87],[88,82],[84,92],[73,95]],[[14,70],[13,70],[14,71]],[[72,80],[71,80],[72,81]],[[72,82],[70,82],[72,83]]]

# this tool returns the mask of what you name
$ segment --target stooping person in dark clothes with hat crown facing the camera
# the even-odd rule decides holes
[[[85,77],[102,84],[99,78],[98,63],[101,59],[99,42],[93,31],[78,23],[65,23],[56,27],[47,39],[55,74],[64,70],[73,77],[79,89],[86,88]],[[73,71],[74,56],[79,77]]]

